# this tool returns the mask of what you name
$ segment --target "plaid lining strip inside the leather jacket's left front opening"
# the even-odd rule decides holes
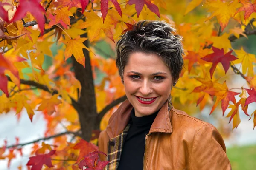
[[[127,136],[130,124],[128,124],[121,134],[115,138],[109,139],[108,142],[108,158],[110,161],[104,170],[116,170],[121,158],[122,147],[125,143],[125,138]]]

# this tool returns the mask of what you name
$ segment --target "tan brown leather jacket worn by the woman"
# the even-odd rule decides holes
[[[108,153],[108,142],[128,123],[132,105],[122,103],[99,136],[99,150]],[[167,102],[145,137],[144,170],[231,170],[226,147],[218,130]],[[100,159],[106,160],[101,155]]]

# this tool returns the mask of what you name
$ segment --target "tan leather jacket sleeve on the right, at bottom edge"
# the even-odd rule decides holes
[[[195,135],[189,170],[231,170],[221,134],[211,124],[204,124]]]

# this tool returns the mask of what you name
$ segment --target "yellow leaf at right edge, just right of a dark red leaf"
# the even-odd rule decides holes
[[[243,47],[240,50],[234,50],[237,58],[233,61],[234,64],[241,63],[242,64],[242,73],[248,76],[253,76],[253,63],[256,63],[256,58],[254,54],[249,54],[244,51]]]

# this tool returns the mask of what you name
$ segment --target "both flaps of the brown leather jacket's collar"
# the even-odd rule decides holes
[[[154,119],[153,124],[149,130],[149,133],[153,132],[163,132],[163,133],[172,133],[171,125],[171,111],[168,111],[168,101],[160,108],[160,111],[157,113],[156,118]],[[131,110],[133,106],[126,99],[119,108],[113,113],[109,119],[106,132],[110,138],[118,136],[125,129],[126,125],[131,116]]]

